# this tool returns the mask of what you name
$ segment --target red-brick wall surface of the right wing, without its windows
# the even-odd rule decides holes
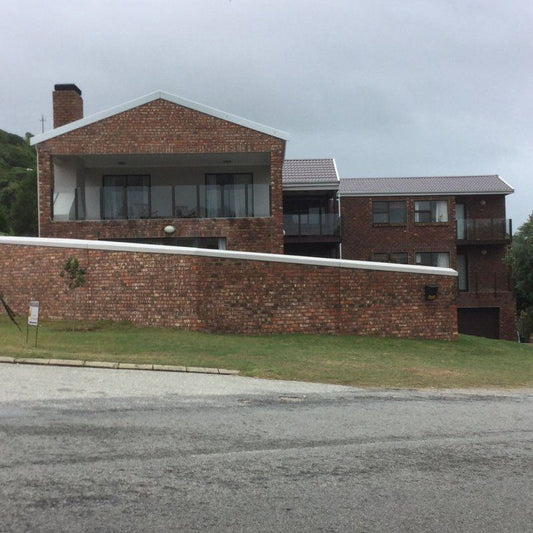
[[[469,286],[458,292],[457,308],[495,307],[500,309],[499,338],[516,339],[516,299],[510,283],[509,268],[504,262],[507,246],[499,243],[458,246],[455,225],[456,202],[465,204],[471,219],[505,218],[505,196],[424,196],[376,197],[375,200],[406,200],[407,221],[403,225],[372,223],[372,198],[343,197],[342,257],[368,261],[374,253],[407,252],[415,262],[416,252],[448,252],[450,266],[457,268],[457,253],[467,258]],[[447,200],[447,223],[416,224],[414,203],[417,200]]]

